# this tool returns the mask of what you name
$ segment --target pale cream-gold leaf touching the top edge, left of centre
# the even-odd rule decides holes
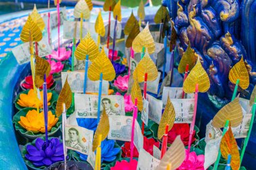
[[[75,4],[74,17],[80,18],[81,13],[83,13],[84,19],[90,18],[90,9],[85,0],[79,0],[77,4]]]

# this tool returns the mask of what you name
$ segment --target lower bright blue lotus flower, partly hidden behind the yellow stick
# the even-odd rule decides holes
[[[121,148],[114,148],[115,140],[103,140],[101,142],[101,161],[112,162],[117,159],[117,154],[120,152]],[[77,152],[78,153],[78,152]],[[87,160],[88,155],[84,155],[82,153],[78,153],[80,155],[80,159],[83,161]]]

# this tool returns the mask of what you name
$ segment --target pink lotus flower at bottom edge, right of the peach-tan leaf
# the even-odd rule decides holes
[[[189,159],[187,157],[189,155]],[[187,160],[187,161],[186,161]],[[188,153],[186,149],[186,157],[181,166],[177,170],[204,170],[204,155],[198,155],[195,152]]]

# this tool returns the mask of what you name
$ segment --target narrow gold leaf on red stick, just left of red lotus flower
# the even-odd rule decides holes
[[[175,121],[175,110],[172,105],[172,102],[170,102],[170,97],[168,95],[164,113],[162,114],[162,118],[160,120],[160,124],[158,127],[158,139],[161,140],[162,136],[164,136],[165,128],[167,124],[169,125],[168,131],[172,129],[174,121]]]

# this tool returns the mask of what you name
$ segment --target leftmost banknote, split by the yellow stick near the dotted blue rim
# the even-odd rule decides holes
[[[34,46],[34,49],[35,46]],[[49,45],[48,38],[44,36],[40,42],[38,42],[38,56],[47,56],[52,53],[52,48]],[[35,50],[34,50],[35,51]],[[26,42],[12,48],[11,52],[15,56],[19,65],[26,62],[30,62],[30,43]]]

